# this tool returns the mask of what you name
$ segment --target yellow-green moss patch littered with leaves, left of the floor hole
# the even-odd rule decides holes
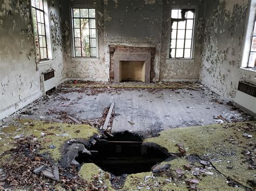
[[[22,119],[18,121],[19,128],[15,125],[0,130],[0,153],[14,147],[17,135],[35,136],[41,143],[41,152],[48,152],[52,159],[58,161],[62,157],[61,146],[70,139],[89,139],[93,135],[99,133],[96,128],[90,125],[71,125],[67,123],[52,123],[43,121],[32,121],[30,119]],[[79,130],[79,132],[77,131]],[[9,143],[9,144],[8,144]],[[4,144],[8,144],[5,145]],[[50,145],[56,148],[49,148]]]

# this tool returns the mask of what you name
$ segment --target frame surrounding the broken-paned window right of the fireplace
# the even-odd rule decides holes
[[[191,45],[191,57],[190,58],[170,58],[171,51],[171,20],[172,20],[172,10],[173,9],[194,9],[194,23],[193,23],[193,34],[192,34],[192,45]],[[197,33],[197,17],[198,17],[198,6],[171,6],[169,13],[168,22],[168,41],[167,41],[167,55],[166,59],[169,60],[193,60],[194,59],[194,49],[196,47],[196,33]]]

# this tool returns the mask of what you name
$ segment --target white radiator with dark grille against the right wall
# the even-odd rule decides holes
[[[256,114],[256,85],[247,82],[239,82],[234,101]]]

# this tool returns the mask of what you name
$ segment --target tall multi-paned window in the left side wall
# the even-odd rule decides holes
[[[37,60],[48,59],[43,0],[31,0]]]

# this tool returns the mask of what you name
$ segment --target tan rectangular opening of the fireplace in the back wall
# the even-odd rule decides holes
[[[120,81],[145,82],[145,61],[120,61]]]

